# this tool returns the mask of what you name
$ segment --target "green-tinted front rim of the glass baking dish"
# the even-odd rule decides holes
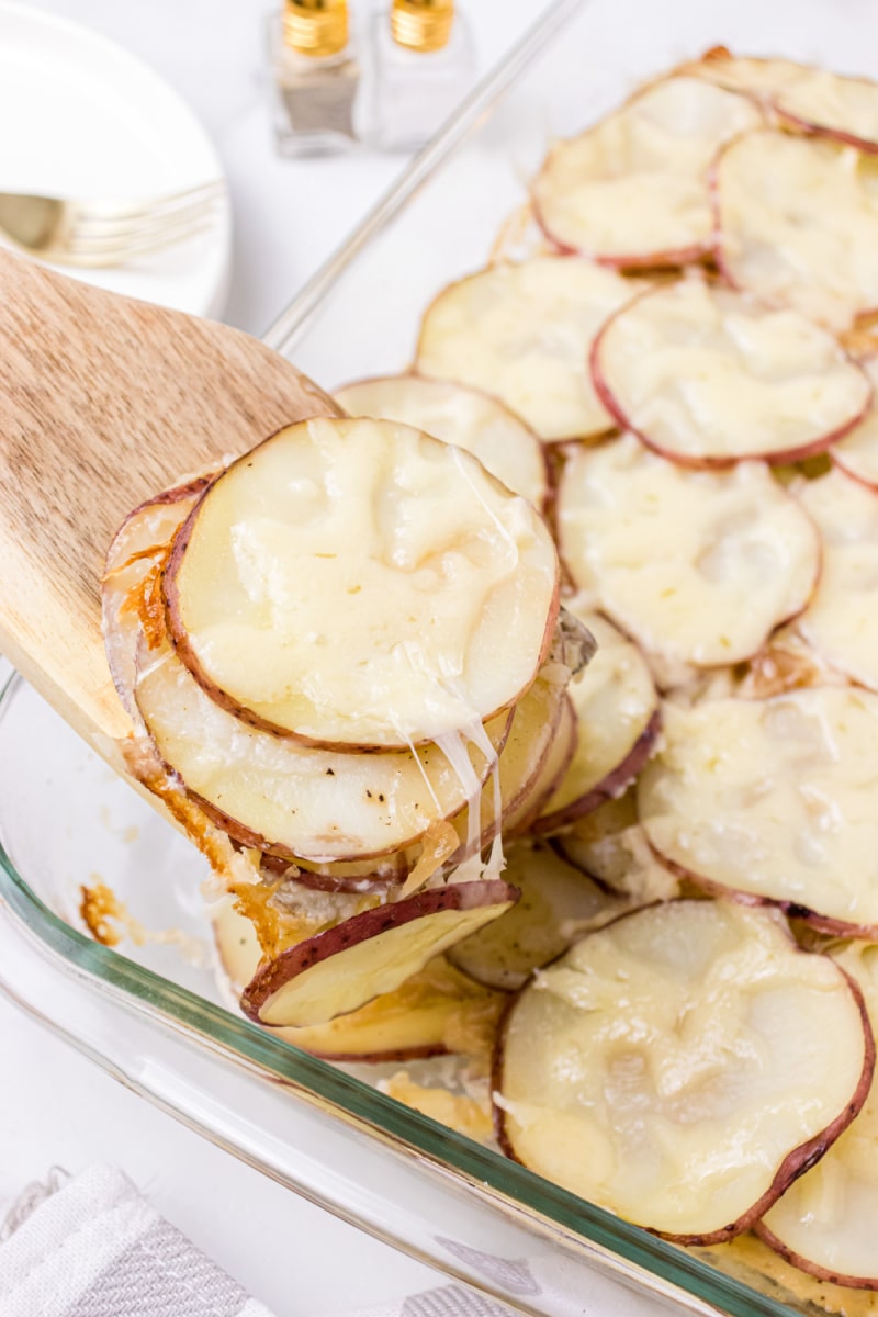
[[[24,685],[13,673],[0,689],[0,720]],[[317,1102],[370,1133],[383,1134],[409,1154],[452,1169],[488,1191],[498,1205],[534,1213],[555,1234],[596,1245],[619,1259],[670,1281],[692,1297],[720,1305],[736,1317],[792,1317],[792,1309],[760,1295],[699,1258],[629,1225],[542,1180],[499,1152],[474,1143],[429,1117],[411,1110],[361,1080],[266,1034],[242,1017],[138,965],[79,932],[55,915],[18,873],[0,844],[0,900],[29,934],[50,951],[66,973],[78,972],[113,989],[136,1011],[190,1036],[199,1047],[221,1052],[237,1064],[286,1080],[296,1097]],[[76,1046],[72,1034],[65,1034]]]

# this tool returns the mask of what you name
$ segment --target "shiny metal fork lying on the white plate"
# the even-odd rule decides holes
[[[130,202],[0,192],[0,230],[55,265],[125,265],[208,228],[224,195],[221,179]]]

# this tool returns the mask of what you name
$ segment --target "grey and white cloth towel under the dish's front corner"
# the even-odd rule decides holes
[[[667,1317],[663,1300],[620,1291],[557,1250],[509,1260],[438,1239],[487,1291],[445,1284],[348,1317]],[[711,1309],[712,1310],[712,1309]],[[0,1221],[0,1317],[271,1317],[107,1166],[53,1172]],[[284,1317],[290,1317],[284,1313]],[[719,1317],[719,1314],[717,1314]]]

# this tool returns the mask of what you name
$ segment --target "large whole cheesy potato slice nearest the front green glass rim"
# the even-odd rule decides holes
[[[853,1119],[862,998],[774,911],[671,901],[590,934],[505,1018],[505,1150],[681,1243],[746,1230]]]

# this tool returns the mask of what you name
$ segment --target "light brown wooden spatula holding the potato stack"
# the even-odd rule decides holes
[[[337,414],[247,335],[0,252],[0,653],[107,756],[129,724],[100,576],[125,515],[280,425]]]

